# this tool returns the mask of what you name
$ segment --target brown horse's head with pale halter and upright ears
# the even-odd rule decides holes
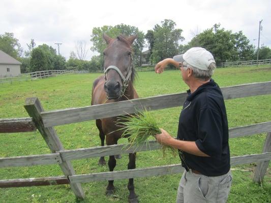
[[[112,39],[104,34],[103,38],[107,43],[104,50],[104,90],[108,99],[116,99],[124,94],[133,77],[131,45],[137,35]]]

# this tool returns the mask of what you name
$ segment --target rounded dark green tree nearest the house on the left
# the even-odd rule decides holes
[[[31,52],[30,71],[36,72],[52,69],[52,62],[50,61],[46,52],[40,47],[34,48]]]

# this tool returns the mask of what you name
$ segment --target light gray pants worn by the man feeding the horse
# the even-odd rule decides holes
[[[176,203],[226,202],[231,180],[230,171],[216,177],[184,171],[179,182]]]

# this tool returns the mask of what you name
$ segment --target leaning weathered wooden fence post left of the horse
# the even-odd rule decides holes
[[[26,98],[24,108],[29,114],[29,116],[33,118],[36,127],[39,129],[51,152],[54,153],[59,150],[64,150],[64,147],[59,138],[57,137],[54,128],[43,126],[41,112],[43,112],[44,110],[41,106],[39,99],[37,97]],[[70,161],[63,161],[61,164],[59,164],[59,166],[61,167],[63,173],[66,176],[75,175],[75,171]],[[84,198],[84,191],[80,183],[70,184],[70,186],[77,197]]]

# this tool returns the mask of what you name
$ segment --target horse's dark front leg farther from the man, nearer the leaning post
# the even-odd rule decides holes
[[[114,137],[110,135],[106,136],[106,145],[114,144],[117,144],[117,141],[114,139]],[[114,155],[109,156],[108,166],[110,172],[114,171],[114,167],[116,166],[116,159]],[[108,181],[108,185],[106,187],[106,195],[112,195],[114,193],[114,189],[114,181]]]

